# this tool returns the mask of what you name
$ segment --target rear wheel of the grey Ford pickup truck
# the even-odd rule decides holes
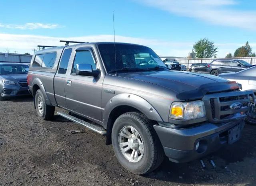
[[[40,89],[36,91],[35,95],[36,113],[42,120],[50,120],[54,116],[54,106],[46,105],[44,94]]]

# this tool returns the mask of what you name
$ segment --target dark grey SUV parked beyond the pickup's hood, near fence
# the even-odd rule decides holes
[[[248,62],[237,59],[218,59],[209,64],[210,74],[215,76],[226,72],[239,72],[250,67],[252,65]]]

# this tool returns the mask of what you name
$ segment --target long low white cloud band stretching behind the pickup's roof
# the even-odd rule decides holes
[[[93,36],[81,36],[81,37],[50,37],[50,36],[38,36],[38,35],[22,35],[22,34],[1,34],[0,33],[0,52],[6,48],[10,49],[10,52],[17,51],[18,53],[29,52],[32,53],[32,48],[37,48],[37,45],[49,45],[49,46],[61,46],[64,43],[60,43],[60,40],[73,40],[83,42],[113,42],[112,35],[93,35]],[[158,55],[163,56],[177,56],[186,57],[188,52],[192,51],[192,42],[172,42],[161,41],[156,39],[145,38],[133,38],[126,36],[116,36],[116,42],[128,42],[134,44],[142,44],[152,48]],[[256,43],[249,43],[250,46],[256,47]],[[218,57],[225,57],[227,52],[232,54],[236,48],[244,45],[244,43],[216,43],[218,47]],[[252,48],[254,50],[254,48]],[[255,51],[255,50],[254,50]]]

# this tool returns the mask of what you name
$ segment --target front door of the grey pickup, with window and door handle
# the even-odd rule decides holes
[[[104,76],[94,78],[92,76],[76,75],[76,64],[91,64],[92,69],[100,69],[92,48],[80,47],[76,49],[72,66],[66,77],[65,94],[68,109],[100,123],[101,117],[101,93]]]

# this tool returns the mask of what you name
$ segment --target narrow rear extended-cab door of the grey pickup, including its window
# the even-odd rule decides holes
[[[66,98],[65,98],[65,84],[66,84],[68,63],[71,55],[72,55],[72,48],[65,48],[60,59],[59,68],[54,77],[55,99],[58,106],[61,106],[63,108],[68,108],[66,104]]]

